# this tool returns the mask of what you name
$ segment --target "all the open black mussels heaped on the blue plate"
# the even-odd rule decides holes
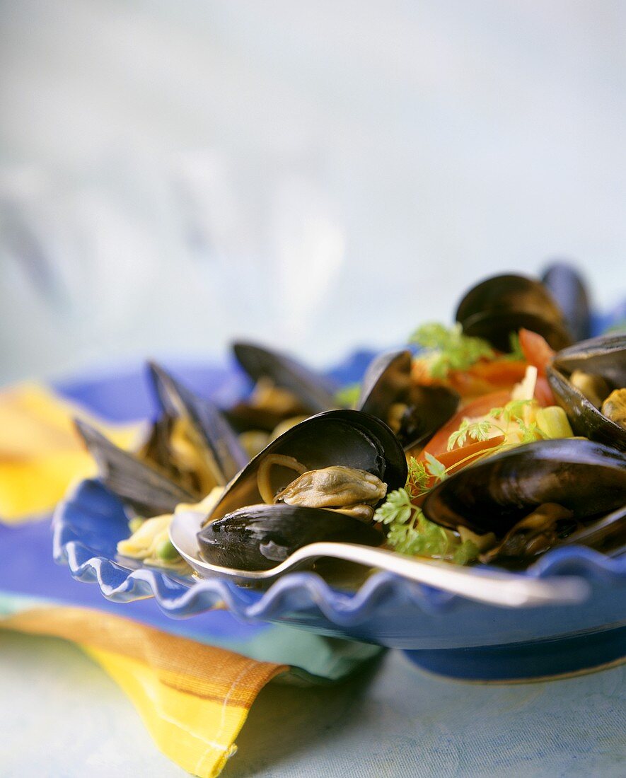
[[[573,435],[467,457],[422,496],[423,515],[455,534],[489,535],[488,562],[528,564],[567,544],[624,552],[626,333],[588,339],[586,291],[563,265],[542,281],[481,282],[456,321],[497,352],[522,328],[540,335],[553,395],[543,404],[565,410]],[[135,453],[77,422],[129,515],[160,517],[212,493],[201,553],[237,569],[271,568],[314,541],[385,545],[376,508],[407,483],[407,460],[463,418],[463,392],[421,380],[418,357],[402,350],[376,358],[355,407],[341,408],[337,387],[295,360],[250,343],[233,350],[255,388],[226,409],[150,365],[160,415]]]

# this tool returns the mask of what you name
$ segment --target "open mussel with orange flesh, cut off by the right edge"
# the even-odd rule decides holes
[[[578,435],[626,451],[626,335],[603,335],[558,352],[547,368],[554,397]]]

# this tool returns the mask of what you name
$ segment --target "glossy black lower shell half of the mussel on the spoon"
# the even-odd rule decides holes
[[[318,541],[382,545],[384,539],[376,527],[344,513],[289,505],[241,508],[198,534],[207,562],[242,570],[270,569]]]

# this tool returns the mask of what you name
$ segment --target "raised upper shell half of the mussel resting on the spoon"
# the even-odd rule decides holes
[[[404,486],[407,480],[404,450],[384,422],[361,411],[327,411],[272,440],[229,483],[208,520],[263,503],[257,473],[264,458],[271,454],[294,457],[309,470],[332,465],[365,470],[386,483],[388,492]],[[294,471],[277,465],[271,469],[271,489],[277,493],[294,478]]]

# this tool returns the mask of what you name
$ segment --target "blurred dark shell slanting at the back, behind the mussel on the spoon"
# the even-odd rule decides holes
[[[296,359],[248,342],[233,343],[233,352],[252,380],[270,378],[277,387],[289,390],[306,412],[336,407],[335,387]]]

